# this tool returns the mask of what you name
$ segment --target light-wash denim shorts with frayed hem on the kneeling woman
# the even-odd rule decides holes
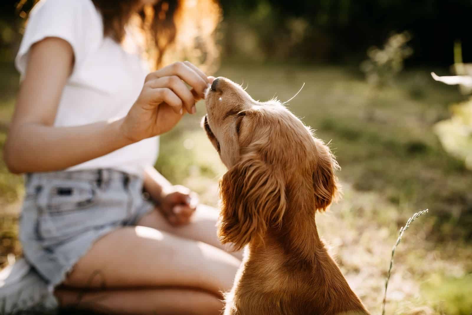
[[[113,169],[28,174],[25,190],[23,253],[51,291],[96,240],[154,208],[142,178]]]

